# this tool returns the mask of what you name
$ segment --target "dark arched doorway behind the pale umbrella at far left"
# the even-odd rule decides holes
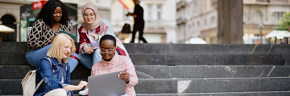
[[[8,26],[15,30],[15,32],[12,32],[12,33],[0,33],[2,37],[2,41],[4,42],[16,41],[17,28],[16,28],[16,25],[14,24],[14,22],[16,21],[15,18],[12,17],[11,15],[4,15],[3,17],[1,17],[0,20],[2,21],[2,25]]]

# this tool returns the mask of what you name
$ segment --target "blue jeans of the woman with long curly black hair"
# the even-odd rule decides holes
[[[44,46],[40,49],[28,51],[26,53],[26,60],[28,61],[28,63],[34,67],[37,67],[39,60],[46,56],[50,46],[51,44]],[[71,55],[74,55],[77,58],[80,58],[76,53],[73,53]],[[70,73],[71,73],[76,68],[78,61],[70,57],[70,59],[68,60],[68,64],[70,65]]]

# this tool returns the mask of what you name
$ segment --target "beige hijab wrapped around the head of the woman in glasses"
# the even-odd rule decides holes
[[[81,24],[88,30],[95,30],[100,26],[100,22],[104,18],[102,16],[99,16],[98,7],[94,3],[87,3],[82,7],[82,18],[84,19],[84,21],[85,18],[83,14],[87,8],[90,8],[95,12],[95,21],[92,24],[88,24],[87,22],[83,22]]]

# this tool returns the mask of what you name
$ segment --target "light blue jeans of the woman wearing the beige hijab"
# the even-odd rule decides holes
[[[119,55],[116,50],[115,53]],[[102,60],[102,55],[100,52],[100,48],[96,49],[92,54],[78,54],[80,57],[81,65],[85,66],[87,69],[92,70],[92,66]]]

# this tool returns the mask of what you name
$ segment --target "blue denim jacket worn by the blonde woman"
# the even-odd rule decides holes
[[[50,66],[50,60],[51,66]],[[71,84],[70,78],[70,66],[68,63],[64,63],[61,60],[62,64],[56,59],[52,57],[44,57],[41,58],[35,74],[35,84],[37,84],[43,79],[39,86],[39,88],[35,91],[33,96],[43,96],[51,90],[63,88],[67,85]],[[62,76],[64,75],[64,83],[61,83]],[[73,96],[72,91],[66,91],[67,95]]]

